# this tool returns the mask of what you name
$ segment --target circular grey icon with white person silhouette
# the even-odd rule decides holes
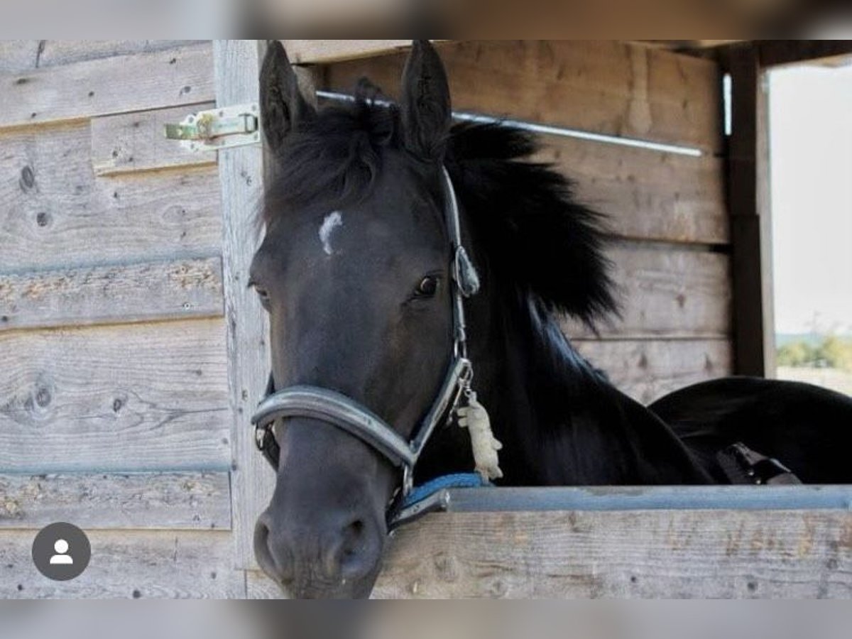
[[[32,562],[39,573],[54,581],[78,577],[91,556],[86,533],[64,521],[43,527],[32,542]]]

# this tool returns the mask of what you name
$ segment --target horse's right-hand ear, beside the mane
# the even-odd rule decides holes
[[[421,158],[442,160],[450,135],[450,86],[429,40],[415,40],[402,72],[403,145]]]

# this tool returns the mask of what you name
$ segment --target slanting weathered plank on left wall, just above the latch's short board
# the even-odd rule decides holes
[[[0,76],[0,127],[210,101],[210,43]]]

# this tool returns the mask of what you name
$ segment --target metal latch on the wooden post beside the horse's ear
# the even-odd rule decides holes
[[[179,124],[166,124],[165,136],[188,151],[241,147],[261,140],[256,104],[237,104],[191,113]]]

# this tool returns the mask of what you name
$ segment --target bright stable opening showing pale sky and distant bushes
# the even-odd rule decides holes
[[[852,58],[767,77],[775,376],[852,394]]]

